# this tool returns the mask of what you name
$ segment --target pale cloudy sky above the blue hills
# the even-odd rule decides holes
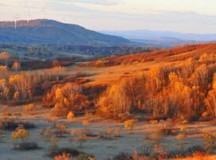
[[[0,21],[54,19],[96,31],[216,33],[216,0],[0,0]]]

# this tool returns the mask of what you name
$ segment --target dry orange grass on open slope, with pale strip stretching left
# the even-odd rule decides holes
[[[132,77],[140,71],[158,66],[175,66],[188,58],[198,59],[203,54],[215,54],[216,43],[190,45],[172,49],[162,49],[150,53],[138,53],[114,57],[114,65],[109,67],[73,66],[68,73],[86,73],[90,82],[86,86],[110,85],[120,77]]]

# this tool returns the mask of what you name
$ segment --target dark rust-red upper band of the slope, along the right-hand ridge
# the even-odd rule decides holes
[[[188,58],[199,59],[203,54],[216,54],[216,43],[186,45],[168,49],[152,51],[148,54],[137,53],[131,55],[117,56],[112,58],[110,63],[133,64],[145,62],[178,62]]]

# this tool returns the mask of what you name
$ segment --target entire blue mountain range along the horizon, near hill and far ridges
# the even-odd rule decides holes
[[[96,32],[79,25],[49,19],[0,22],[0,44],[93,47],[135,45],[160,48],[210,41],[216,41],[216,34],[151,30]]]

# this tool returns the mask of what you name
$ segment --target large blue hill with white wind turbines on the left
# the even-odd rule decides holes
[[[112,46],[130,41],[54,20],[0,22],[0,43]]]

